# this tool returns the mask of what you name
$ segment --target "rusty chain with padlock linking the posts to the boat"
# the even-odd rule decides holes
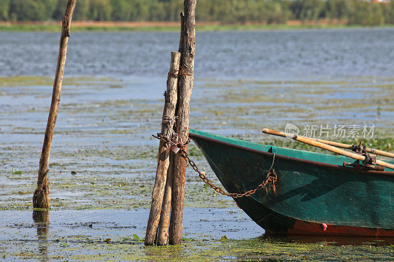
[[[177,153],[178,151],[180,151],[181,155],[183,157],[185,157],[188,162],[189,165],[193,168],[194,171],[196,171],[198,173],[198,176],[202,179],[202,181],[204,181],[207,185],[209,185],[210,187],[212,187],[216,192],[224,195],[224,196],[228,196],[228,197],[232,197],[232,198],[242,198],[242,197],[249,197],[250,195],[255,194],[257,191],[262,190],[268,183],[272,182],[272,191],[275,193],[275,182],[277,180],[277,175],[275,173],[274,170],[270,170],[268,172],[267,178],[263,181],[263,183],[261,183],[260,185],[258,185],[255,189],[249,190],[243,194],[237,194],[237,193],[227,193],[225,192],[223,189],[221,189],[220,187],[215,186],[214,184],[212,184],[209,179],[202,174],[199,170],[198,167],[196,165],[196,163],[190,159],[189,154],[186,152],[185,147],[189,145],[190,143],[190,138],[188,138],[188,140],[185,143],[174,143],[172,142],[170,139],[168,139],[166,136],[163,136],[162,134],[158,133],[157,136],[152,135],[153,137],[163,141],[164,143],[168,143],[171,145],[171,150],[174,153]],[[179,148],[178,150],[173,150],[173,147],[175,146],[177,148]]]

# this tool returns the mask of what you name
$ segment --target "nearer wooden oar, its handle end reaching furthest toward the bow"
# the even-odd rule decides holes
[[[321,142],[318,142],[316,140],[310,139],[310,138],[306,138],[306,137],[302,137],[302,136],[298,136],[296,134],[290,134],[290,133],[286,133],[286,132],[281,132],[281,131],[276,131],[276,130],[271,130],[271,129],[267,129],[267,128],[263,128],[263,133],[265,134],[270,134],[270,135],[275,135],[275,136],[280,136],[280,137],[287,137],[287,138],[292,138],[296,141],[302,142],[304,144],[308,144],[310,146],[316,146],[316,147],[320,147],[323,149],[326,149],[328,151],[340,154],[340,155],[344,155],[356,160],[360,160],[360,161],[364,161],[366,159],[365,156],[360,155],[360,154],[356,154],[356,153],[352,153],[352,152],[348,152],[342,149],[339,149],[335,146],[330,146],[330,145],[326,145],[323,144]],[[394,165],[393,164],[389,164],[386,163],[384,161],[381,160],[376,160],[376,165],[377,166],[382,166],[382,167],[387,167],[390,169],[394,169]]]

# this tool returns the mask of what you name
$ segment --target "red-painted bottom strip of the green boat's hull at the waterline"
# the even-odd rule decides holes
[[[287,230],[287,234],[394,237],[394,229],[349,227],[327,224],[327,228],[324,230],[323,224],[321,223],[296,220],[294,227]]]

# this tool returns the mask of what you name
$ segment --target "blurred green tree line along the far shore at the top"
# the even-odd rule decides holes
[[[67,0],[0,0],[2,21],[61,20]],[[77,0],[74,20],[178,21],[183,0]],[[198,21],[224,23],[336,19],[357,25],[394,24],[394,0],[197,0]]]

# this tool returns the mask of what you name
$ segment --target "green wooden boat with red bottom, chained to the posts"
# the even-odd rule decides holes
[[[355,160],[189,132],[230,193],[255,189],[272,165],[275,191],[267,184],[234,199],[267,233],[394,236],[394,170],[344,167]]]

